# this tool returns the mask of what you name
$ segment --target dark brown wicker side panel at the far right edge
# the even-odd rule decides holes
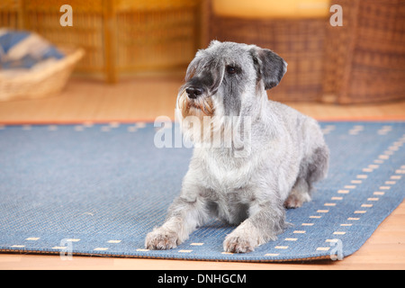
[[[329,103],[405,97],[405,1],[339,0],[343,26],[328,28],[324,96]]]

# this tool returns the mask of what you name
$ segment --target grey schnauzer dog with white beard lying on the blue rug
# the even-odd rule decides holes
[[[193,144],[212,144],[214,132],[223,140],[194,145],[181,193],[165,223],[148,233],[147,248],[174,248],[217,217],[238,225],[224,250],[250,252],[284,231],[284,207],[311,201],[313,184],[327,175],[329,148],[317,121],[268,100],[266,90],[286,70],[283,58],[256,45],[213,40],[197,52],[177,97],[182,130]],[[236,157],[240,142],[246,153]]]

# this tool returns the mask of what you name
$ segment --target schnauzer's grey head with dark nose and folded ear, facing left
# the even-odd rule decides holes
[[[187,68],[177,106],[182,116],[238,116],[266,96],[287,70],[284,59],[256,45],[212,40]]]

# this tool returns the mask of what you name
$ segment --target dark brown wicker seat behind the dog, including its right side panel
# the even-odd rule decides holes
[[[278,101],[372,103],[405,98],[405,0],[333,0],[343,26],[325,19],[243,19],[212,13],[209,39],[274,49],[287,63]]]

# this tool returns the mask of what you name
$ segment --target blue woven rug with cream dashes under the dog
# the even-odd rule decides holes
[[[144,249],[179,193],[190,148],[156,148],[153,123],[0,125],[0,251],[221,261],[342,258],[402,202],[405,122],[322,122],[329,177],[293,226],[249,254],[223,253],[212,220],[179,247]],[[173,139],[175,141],[175,139]]]

